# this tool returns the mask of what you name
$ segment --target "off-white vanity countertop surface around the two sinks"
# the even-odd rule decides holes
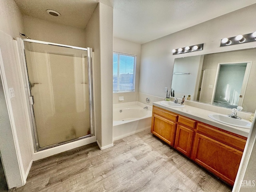
[[[232,133],[244,136],[244,137],[248,137],[248,135],[249,135],[250,129],[239,128],[239,127],[223,124],[223,123],[217,122],[215,120],[212,120],[210,117],[208,117],[209,114],[219,114],[219,113],[192,107],[192,106],[188,106],[188,105],[185,105],[185,107],[183,107],[183,108],[168,107],[168,106],[162,105],[161,102],[162,101],[153,102],[153,105],[160,107],[162,109],[166,109],[170,112],[174,112],[174,113],[186,116],[188,118],[198,120],[200,122],[221,128],[223,130],[226,130],[226,131],[229,131],[229,132],[232,132]]]

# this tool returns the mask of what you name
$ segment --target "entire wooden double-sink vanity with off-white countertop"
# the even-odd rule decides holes
[[[249,130],[215,122],[212,112],[153,103],[151,132],[233,186]]]

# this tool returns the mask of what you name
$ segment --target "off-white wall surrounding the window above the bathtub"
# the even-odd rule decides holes
[[[140,48],[138,43],[113,38],[113,51],[125,54],[136,55],[136,72],[135,72],[135,92],[113,93],[113,104],[122,102],[132,102],[138,99],[139,79],[140,79]],[[124,96],[124,101],[118,101],[119,96]]]

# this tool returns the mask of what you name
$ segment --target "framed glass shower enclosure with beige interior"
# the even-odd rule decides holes
[[[34,150],[94,136],[91,48],[19,42]]]

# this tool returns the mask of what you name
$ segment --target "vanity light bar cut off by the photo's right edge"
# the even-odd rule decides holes
[[[256,32],[245,34],[245,35],[238,35],[235,37],[224,38],[220,41],[220,46],[229,46],[235,45],[240,43],[248,43],[256,41]]]

